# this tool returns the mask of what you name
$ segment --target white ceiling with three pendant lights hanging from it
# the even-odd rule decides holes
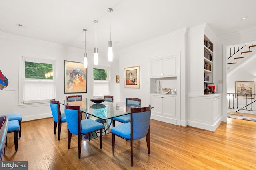
[[[209,23],[216,36],[256,27],[255,0],[0,0],[0,31],[99,53]],[[241,18],[248,17],[245,20]],[[17,26],[22,25],[22,27]]]

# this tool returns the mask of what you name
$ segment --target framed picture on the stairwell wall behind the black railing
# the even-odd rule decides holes
[[[236,98],[254,99],[254,81],[235,82]]]

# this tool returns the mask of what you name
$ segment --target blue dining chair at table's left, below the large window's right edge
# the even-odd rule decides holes
[[[52,111],[52,117],[54,120],[54,134],[56,134],[56,129],[58,125],[58,140],[60,141],[61,123],[66,122],[65,113],[60,112],[60,102],[57,100],[50,100],[50,107]]]

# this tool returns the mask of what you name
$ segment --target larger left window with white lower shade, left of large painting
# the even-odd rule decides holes
[[[49,102],[56,96],[55,60],[19,55],[19,102]]]

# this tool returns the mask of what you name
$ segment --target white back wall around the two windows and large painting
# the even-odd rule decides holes
[[[56,43],[50,43],[28,37],[17,36],[13,34],[0,32],[0,70],[8,78],[9,84],[4,90],[14,90],[14,113],[20,113],[23,121],[51,117],[49,104],[34,105],[30,107],[18,106],[18,53],[36,55],[40,57],[49,57],[56,59],[56,80],[57,91],[56,100],[65,100],[64,94],[64,60],[83,62],[84,49],[68,47]],[[88,79],[87,93],[81,93],[83,98],[92,97],[92,64],[93,51],[87,51],[88,56]],[[107,55],[99,53],[99,65],[109,65],[111,94],[115,96],[114,100],[119,101],[119,84],[116,83],[116,75],[119,74],[119,61],[114,59],[112,63],[108,62]],[[3,95],[0,94],[0,98]],[[62,107],[61,109],[63,109]],[[2,113],[0,115],[8,114]]]

